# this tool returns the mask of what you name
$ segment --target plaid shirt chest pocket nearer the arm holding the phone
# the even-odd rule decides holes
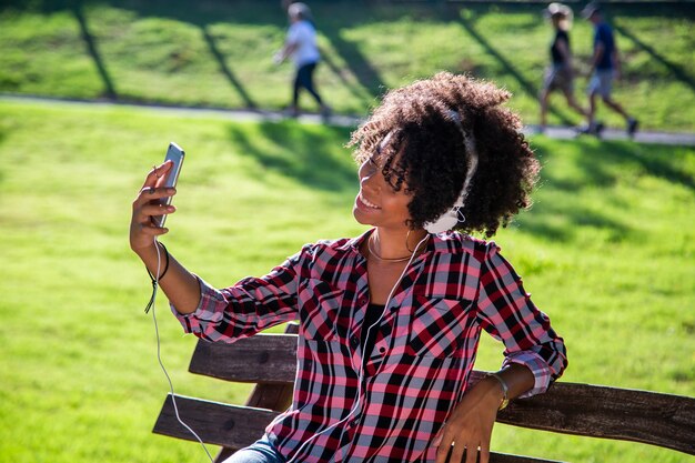
[[[344,301],[342,290],[322,280],[310,279],[300,285],[300,330],[304,338],[333,341]]]

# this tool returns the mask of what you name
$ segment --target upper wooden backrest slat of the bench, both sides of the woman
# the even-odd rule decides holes
[[[289,400],[295,368],[295,334],[258,334],[233,344],[199,341],[190,371],[228,381],[285,385],[282,391]],[[473,381],[482,375],[474,372]],[[268,396],[272,397],[273,393]],[[286,403],[259,400],[252,405],[284,410]],[[558,382],[543,395],[514,401],[498,414],[497,421],[643,442],[695,454],[695,399],[692,397]]]

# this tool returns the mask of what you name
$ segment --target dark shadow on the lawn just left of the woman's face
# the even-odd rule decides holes
[[[331,193],[356,191],[357,168],[350,152],[344,150],[336,154],[336,148],[340,148],[336,143],[349,139],[349,129],[323,127],[312,130],[294,121],[261,122],[259,128],[262,137],[254,137],[239,125],[229,125],[229,137],[241,147],[241,155],[251,157],[265,170],[316,190]]]

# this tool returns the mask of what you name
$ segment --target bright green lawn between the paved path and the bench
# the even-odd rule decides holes
[[[305,243],[364,230],[351,217],[349,130],[147,109],[0,102],[0,462],[203,462],[151,434],[168,391],[150,284],[128,246],[130,203],[167,143],[188,152],[162,241],[216,285]],[[564,336],[565,381],[695,395],[695,150],[532,140],[534,208],[496,241]],[[177,392],[243,401],[187,372],[195,340],[157,305]],[[479,369],[501,349],[482,345]],[[629,444],[497,426],[493,449],[572,462],[687,461]]]

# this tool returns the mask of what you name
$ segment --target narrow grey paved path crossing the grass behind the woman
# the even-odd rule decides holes
[[[8,95],[0,94],[0,101],[21,101],[37,104],[66,104],[66,105],[89,105],[89,107],[132,107],[148,109],[159,112],[169,113],[182,113],[187,117],[220,117],[229,120],[239,121],[281,121],[288,119],[288,115],[279,111],[263,111],[263,110],[230,110],[230,109],[203,109],[203,108],[185,108],[185,107],[164,107],[155,104],[131,104],[131,103],[118,103],[111,101],[74,101],[56,98],[42,98],[42,97],[24,97],[24,95]],[[301,123],[329,123],[331,125],[339,127],[356,127],[362,119],[352,115],[334,114],[328,121],[324,121],[319,114],[302,114],[298,118]],[[537,133],[537,127],[528,125],[524,129],[526,134]],[[577,138],[576,130],[571,127],[557,127],[551,125],[545,129],[545,137],[561,140],[570,140]],[[590,137],[590,135],[581,135]],[[628,137],[624,129],[611,129],[606,128],[602,132],[603,140],[627,140]],[[695,147],[695,133],[676,133],[676,132],[654,132],[654,131],[638,131],[634,139],[638,143],[654,143],[654,144],[674,144],[684,147]]]

